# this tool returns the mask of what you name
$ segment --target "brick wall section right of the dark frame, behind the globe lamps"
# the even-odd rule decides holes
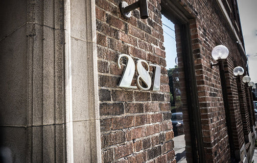
[[[228,161],[230,160],[230,151],[221,79],[219,68],[211,68],[211,61],[216,63],[211,57],[211,51],[219,44],[223,44],[229,49],[229,57],[224,66],[232,140],[236,150],[242,147],[244,135],[237,83],[232,79],[232,70],[236,66],[245,67],[246,61],[242,61],[236,38],[232,35],[228,23],[215,1],[181,1],[180,4],[185,6],[189,13],[196,16],[195,24],[190,21],[190,29],[205,159],[207,162]],[[246,100],[244,101],[246,102]]]

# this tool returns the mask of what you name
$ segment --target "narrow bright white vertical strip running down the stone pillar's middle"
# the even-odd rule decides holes
[[[65,118],[66,118],[66,162],[74,162],[73,155],[73,108],[72,108],[72,60],[71,60],[71,2],[64,1],[65,37]]]

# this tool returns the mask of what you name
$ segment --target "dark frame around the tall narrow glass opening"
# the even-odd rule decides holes
[[[189,27],[189,20],[194,19],[197,12],[194,11],[194,15],[190,14],[176,0],[161,0],[160,5],[161,13],[169,18],[173,23],[179,25],[187,90],[186,95],[188,99],[192,156],[194,162],[205,162],[201,113],[198,102],[191,32]]]

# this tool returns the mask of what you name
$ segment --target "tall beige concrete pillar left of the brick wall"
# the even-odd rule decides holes
[[[1,146],[13,162],[101,162],[95,1],[0,3]]]

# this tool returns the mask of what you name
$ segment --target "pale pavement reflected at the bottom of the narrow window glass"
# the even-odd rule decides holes
[[[175,159],[179,163],[187,162],[186,157],[185,157],[185,140],[184,140],[184,137],[185,137],[185,135],[182,134],[182,135],[179,135],[179,136],[173,138],[173,140],[174,140],[174,150],[175,150]]]

